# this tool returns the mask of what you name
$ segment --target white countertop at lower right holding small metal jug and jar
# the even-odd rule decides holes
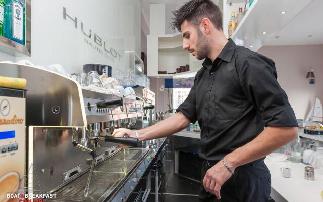
[[[304,179],[304,167],[307,166],[303,163],[285,162],[267,162],[265,161],[268,169],[272,175],[272,189],[274,189],[284,199],[281,199],[273,191],[271,197],[276,201],[290,201],[290,202],[321,202],[321,191],[323,191],[323,175],[315,169],[315,180]],[[280,171],[281,167],[291,169],[291,177],[284,178]]]

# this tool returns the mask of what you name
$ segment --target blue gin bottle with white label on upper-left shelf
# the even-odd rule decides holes
[[[19,0],[5,0],[4,36],[25,45],[24,5]]]

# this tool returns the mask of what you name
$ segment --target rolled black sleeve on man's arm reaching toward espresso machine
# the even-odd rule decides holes
[[[194,85],[191,88],[190,93],[188,94],[185,101],[177,108],[177,112],[182,112],[191,123],[195,123],[196,118],[196,110],[195,110],[195,84],[196,84],[197,76],[194,78]]]

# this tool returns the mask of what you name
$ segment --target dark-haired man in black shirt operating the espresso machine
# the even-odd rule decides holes
[[[274,61],[228,41],[221,11],[210,0],[189,1],[173,13],[183,48],[205,59],[194,86],[174,116],[138,131],[117,129],[112,136],[166,137],[198,121],[199,156],[205,160],[199,200],[267,201],[271,176],[263,159],[298,135]]]

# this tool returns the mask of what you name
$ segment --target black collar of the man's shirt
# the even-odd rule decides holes
[[[219,56],[214,60],[214,62],[211,61],[211,59],[206,58],[203,62],[203,67],[210,70],[213,66],[213,64],[218,64],[220,60],[224,60],[226,62],[230,62],[233,56],[233,53],[236,49],[236,44],[233,42],[232,39],[229,39],[227,44],[223,47],[222,51],[220,52]]]

